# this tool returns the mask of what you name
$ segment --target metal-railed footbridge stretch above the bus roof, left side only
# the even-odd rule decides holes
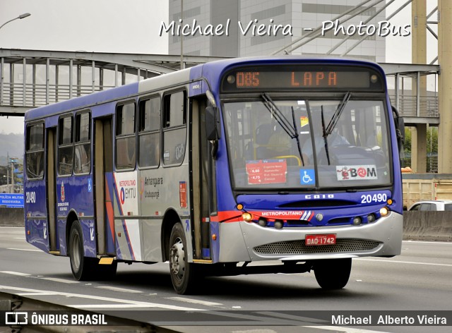
[[[183,66],[217,60],[184,56]],[[180,56],[0,49],[0,115],[177,71]]]

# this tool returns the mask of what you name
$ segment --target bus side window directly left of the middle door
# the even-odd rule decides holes
[[[74,174],[88,174],[91,169],[91,114],[84,112],[76,115],[76,142]]]

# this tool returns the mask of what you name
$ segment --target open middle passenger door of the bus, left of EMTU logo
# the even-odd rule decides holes
[[[97,253],[114,255],[112,119],[94,119],[94,188]]]

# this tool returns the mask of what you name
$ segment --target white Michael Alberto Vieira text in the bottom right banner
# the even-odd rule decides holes
[[[437,315],[395,316],[379,315],[374,321],[372,315],[332,315],[332,325],[448,325],[446,317]]]

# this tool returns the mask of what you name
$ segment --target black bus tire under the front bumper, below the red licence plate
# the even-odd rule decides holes
[[[350,278],[352,258],[317,260],[313,268],[322,289],[343,289]]]

